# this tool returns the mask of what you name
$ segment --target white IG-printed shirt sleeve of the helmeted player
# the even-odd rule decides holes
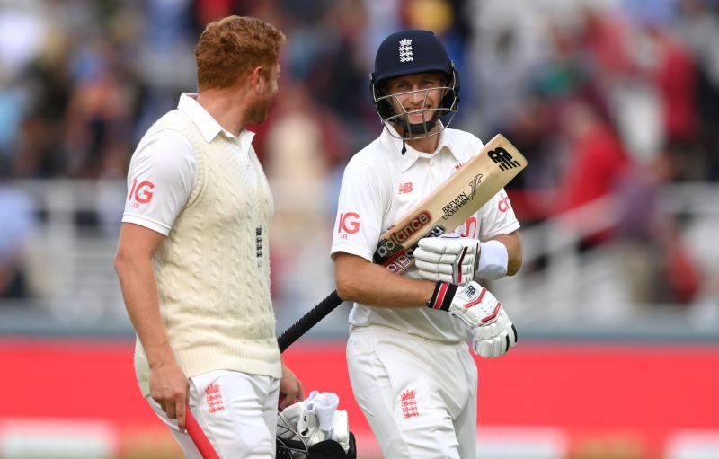
[[[331,256],[347,252],[372,261],[382,231],[386,190],[367,163],[350,162],[344,170],[334,222]]]

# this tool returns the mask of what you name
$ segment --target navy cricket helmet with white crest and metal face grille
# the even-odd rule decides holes
[[[433,89],[444,91],[439,107],[424,109],[431,112],[431,120],[421,124],[409,124],[407,112],[395,113],[390,98],[396,94],[386,93],[385,83],[391,78],[415,74],[439,74],[446,78],[445,86]],[[403,130],[402,138],[411,139],[438,134],[430,133],[439,117],[448,113],[457,113],[459,106],[459,74],[454,63],[449,59],[447,50],[431,31],[410,30],[398,31],[389,35],[377,49],[375,71],[369,75],[370,90],[377,108],[377,114],[383,121],[399,124]],[[428,90],[420,90],[425,93]],[[446,128],[451,118],[444,124]]]

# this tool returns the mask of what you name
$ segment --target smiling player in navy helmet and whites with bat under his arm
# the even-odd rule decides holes
[[[389,35],[371,91],[384,128],[345,169],[331,251],[337,291],[354,302],[352,389],[385,457],[474,458],[477,369],[467,340],[483,357],[517,342],[481,283],[519,270],[519,223],[501,190],[455,234],[420,240],[404,275],[373,264],[380,235],[483,144],[439,119],[457,111],[459,76],[431,31]]]

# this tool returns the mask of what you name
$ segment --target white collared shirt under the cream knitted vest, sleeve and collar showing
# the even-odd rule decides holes
[[[240,137],[222,128],[197,102],[197,94],[182,93],[177,108],[185,112],[210,142],[216,136],[231,140],[233,154],[253,186],[257,176],[250,161],[254,133],[243,129]],[[165,129],[138,145],[129,163],[128,198],[122,221],[170,234],[175,218],[190,197],[196,178],[196,159],[190,142],[177,131]]]

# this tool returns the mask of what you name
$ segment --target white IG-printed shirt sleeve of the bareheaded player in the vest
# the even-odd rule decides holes
[[[196,179],[195,154],[182,134],[164,130],[143,141],[128,172],[122,221],[170,234]]]

